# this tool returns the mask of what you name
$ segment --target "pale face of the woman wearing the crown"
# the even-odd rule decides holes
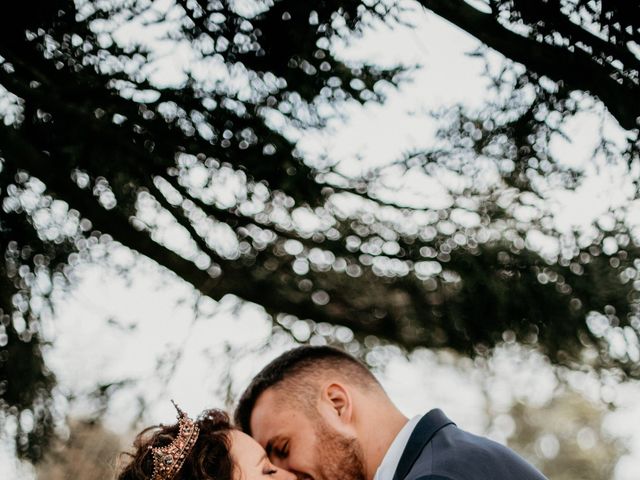
[[[274,466],[260,444],[246,433],[231,430],[230,440],[237,467],[234,480],[296,480],[293,473]]]

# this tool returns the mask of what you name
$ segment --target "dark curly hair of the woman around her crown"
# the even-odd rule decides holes
[[[205,410],[196,420],[200,427],[198,440],[174,480],[232,480],[234,462],[229,433],[233,430],[229,417],[221,410]],[[169,445],[178,435],[178,423],[149,427],[133,442],[134,451],[127,453],[129,463],[117,480],[150,480],[153,455],[149,447]]]

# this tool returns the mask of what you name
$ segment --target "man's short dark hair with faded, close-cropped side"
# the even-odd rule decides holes
[[[287,384],[297,389],[294,398],[309,397],[310,383],[307,379],[318,378],[324,372],[332,371],[350,383],[361,388],[378,387],[380,383],[360,361],[342,350],[333,347],[302,346],[289,350],[271,361],[258,373],[244,391],[235,411],[235,424],[251,434],[251,414],[260,395],[269,388]],[[306,395],[305,395],[306,393]]]

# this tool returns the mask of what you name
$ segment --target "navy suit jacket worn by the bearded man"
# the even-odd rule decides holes
[[[393,480],[546,480],[522,457],[460,430],[441,410],[420,419]]]

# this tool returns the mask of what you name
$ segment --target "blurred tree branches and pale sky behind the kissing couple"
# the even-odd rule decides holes
[[[640,4],[0,17],[0,476],[111,478],[300,343],[550,478],[640,471]]]

